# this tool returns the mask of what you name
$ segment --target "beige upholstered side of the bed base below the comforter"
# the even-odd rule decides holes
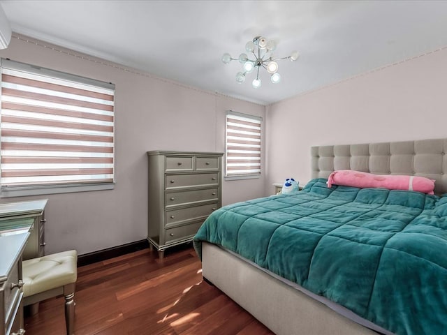
[[[203,243],[203,277],[277,335],[373,335],[235,255]]]

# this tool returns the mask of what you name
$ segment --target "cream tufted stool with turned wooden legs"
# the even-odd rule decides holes
[[[64,295],[67,335],[73,334],[75,282],[78,278],[77,262],[78,253],[75,250],[22,262],[24,306]],[[37,313],[36,308],[33,308],[31,313]]]

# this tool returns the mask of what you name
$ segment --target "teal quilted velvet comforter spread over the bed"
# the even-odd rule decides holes
[[[219,244],[395,334],[447,334],[447,196],[332,186],[222,207]]]

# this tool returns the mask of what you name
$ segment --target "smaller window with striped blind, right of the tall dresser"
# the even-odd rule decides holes
[[[226,114],[226,177],[261,174],[261,117],[228,111]]]

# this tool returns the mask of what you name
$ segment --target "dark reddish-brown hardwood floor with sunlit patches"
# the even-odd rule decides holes
[[[191,244],[149,249],[78,269],[75,334],[273,334],[217,288],[203,281]],[[64,297],[41,302],[25,317],[27,335],[65,334]]]

